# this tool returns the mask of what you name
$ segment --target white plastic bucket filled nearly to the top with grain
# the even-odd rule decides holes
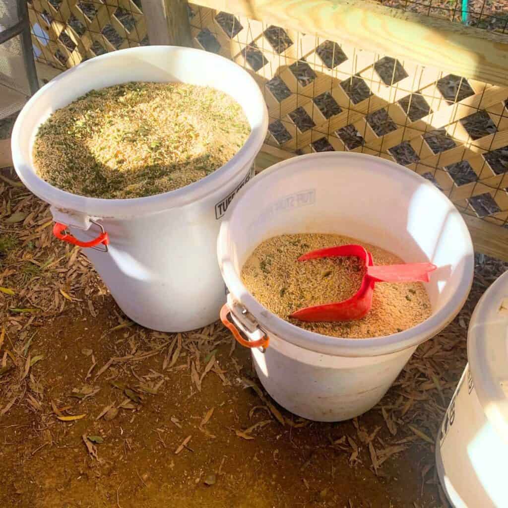
[[[250,136],[222,168],[157,196],[86,198],[40,179],[31,147],[41,122],[91,89],[128,81],[178,81],[223,90],[242,106]],[[251,176],[267,125],[258,85],[232,61],[197,49],[146,46],[93,58],[51,80],[19,114],[12,155],[22,182],[51,205],[53,218],[79,240],[97,237],[99,229],[90,227],[90,218],[109,234],[107,253],[91,248],[86,253],[123,312],[148,328],[185,331],[215,321],[226,299],[215,257],[220,220]]]

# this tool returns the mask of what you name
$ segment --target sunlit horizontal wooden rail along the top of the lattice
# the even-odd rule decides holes
[[[508,85],[508,36],[488,30],[371,0],[199,0],[198,4],[466,78]]]

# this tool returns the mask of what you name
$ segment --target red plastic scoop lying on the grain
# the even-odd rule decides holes
[[[372,306],[376,282],[428,282],[429,273],[436,269],[432,263],[374,266],[372,255],[361,245],[341,245],[307,252],[298,261],[309,259],[356,256],[365,263],[367,271],[358,292],[347,300],[305,307],[290,317],[300,321],[354,321],[365,317]]]

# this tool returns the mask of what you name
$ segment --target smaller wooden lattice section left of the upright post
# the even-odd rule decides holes
[[[109,51],[148,44],[139,5],[132,0],[31,0],[38,60],[66,69]]]

